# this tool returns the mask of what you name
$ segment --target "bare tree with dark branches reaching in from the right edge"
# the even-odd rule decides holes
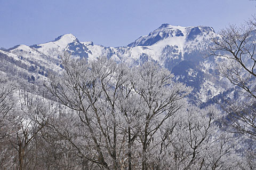
[[[242,134],[249,141],[256,137],[256,25],[255,18],[245,25],[230,25],[220,31],[220,36],[213,39],[210,54],[220,57],[218,64],[220,76],[239,88],[237,100],[226,100],[221,104],[227,117],[223,122],[225,129],[231,133]],[[244,144],[245,145],[245,144]],[[251,144],[251,158],[255,161],[255,148]],[[254,157],[254,158],[253,158]]]

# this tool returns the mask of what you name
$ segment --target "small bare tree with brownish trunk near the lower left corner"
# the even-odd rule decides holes
[[[32,95],[26,95],[26,105],[20,109],[19,104],[13,110],[17,116],[15,129],[12,135],[8,137],[10,144],[15,149],[15,166],[17,169],[29,169],[33,166],[34,157],[30,155],[31,150],[35,148],[36,136],[47,124],[47,116],[50,108],[40,99],[34,99]]]

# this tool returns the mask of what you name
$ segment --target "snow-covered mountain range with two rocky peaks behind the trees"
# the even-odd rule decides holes
[[[49,71],[61,71],[60,55],[63,51],[89,61],[103,55],[130,66],[155,61],[171,70],[176,80],[194,87],[190,100],[202,104],[230,91],[229,84],[215,70],[220,59],[202,58],[202,52],[211,45],[210,39],[215,36],[218,35],[212,27],[163,24],[127,46],[104,47],[93,42],[79,42],[74,35],[66,34],[44,44],[18,45],[0,50],[0,60],[8,63],[9,68],[26,72],[23,78],[29,82],[44,80]],[[15,73],[3,65],[0,65],[0,71]]]

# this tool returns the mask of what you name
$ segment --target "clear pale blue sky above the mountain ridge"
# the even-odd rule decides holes
[[[212,26],[242,23],[250,0],[0,0],[0,47],[33,45],[74,34],[79,41],[125,46],[162,23]]]

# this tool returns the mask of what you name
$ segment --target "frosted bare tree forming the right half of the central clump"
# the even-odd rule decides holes
[[[139,118],[142,125],[138,137],[141,143],[141,169],[145,170],[148,169],[150,150],[162,142],[157,136],[159,129],[166,120],[181,109],[183,106],[181,99],[191,90],[181,83],[174,83],[170,71],[152,62],[135,69],[133,75],[132,85],[135,93],[138,94],[134,100],[140,104],[142,111]]]

